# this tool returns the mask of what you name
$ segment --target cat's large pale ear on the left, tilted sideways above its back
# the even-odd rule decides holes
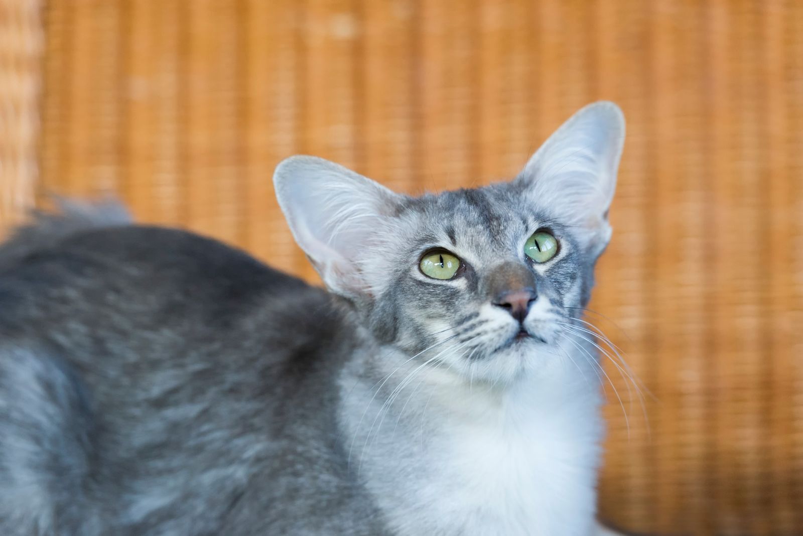
[[[365,248],[402,196],[315,156],[283,160],[273,184],[293,237],[326,286],[348,298],[365,293]]]

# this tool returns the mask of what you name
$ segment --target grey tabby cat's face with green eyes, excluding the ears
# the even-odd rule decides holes
[[[364,272],[375,335],[475,380],[510,379],[534,353],[561,351],[600,250],[521,183],[412,199],[385,233],[381,253],[365,252],[377,255]]]

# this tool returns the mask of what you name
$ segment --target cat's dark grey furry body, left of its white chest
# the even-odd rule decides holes
[[[73,223],[0,246],[0,532],[218,534],[236,503],[260,511],[251,534],[316,486],[295,464],[339,470],[331,384],[354,342],[324,290],[193,233]],[[303,498],[282,508],[315,519]]]

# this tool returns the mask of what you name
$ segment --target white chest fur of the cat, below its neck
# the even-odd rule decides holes
[[[600,397],[560,380],[502,394],[423,388],[387,430],[357,433],[354,461],[397,533],[592,534]]]

